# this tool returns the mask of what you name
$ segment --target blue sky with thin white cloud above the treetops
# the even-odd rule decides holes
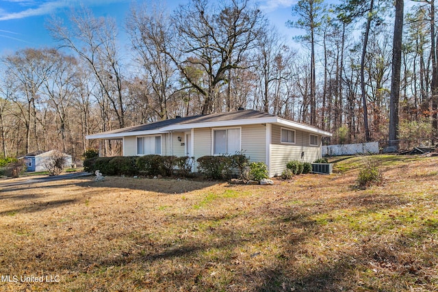
[[[165,1],[169,10],[188,0]],[[214,0],[213,0],[214,1]],[[296,0],[258,0],[254,1],[282,34],[291,34],[285,27],[291,16],[291,7]],[[65,13],[82,3],[90,8],[95,16],[112,16],[116,19],[120,34],[129,12],[132,0],[0,0],[0,55],[13,53],[26,47],[51,47],[51,39],[44,23],[51,15],[64,17]]]

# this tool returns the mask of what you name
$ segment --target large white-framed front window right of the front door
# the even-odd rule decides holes
[[[214,130],[214,155],[235,154],[240,151],[240,129]]]

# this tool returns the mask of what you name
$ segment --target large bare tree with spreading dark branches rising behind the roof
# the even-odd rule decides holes
[[[173,16],[177,30],[178,55],[172,59],[190,85],[204,97],[202,114],[215,109],[220,86],[229,70],[241,68],[244,55],[255,45],[263,16],[248,0],[224,0],[215,8],[205,0],[180,5]],[[188,68],[203,71],[195,79]],[[216,109],[218,110],[218,109]]]

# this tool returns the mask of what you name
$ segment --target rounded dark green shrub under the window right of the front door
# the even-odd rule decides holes
[[[231,177],[233,161],[229,156],[206,155],[199,157],[196,161],[198,161],[198,170],[203,172],[207,178],[221,179]]]

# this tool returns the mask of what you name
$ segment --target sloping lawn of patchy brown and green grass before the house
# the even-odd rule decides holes
[[[438,157],[377,157],[365,190],[357,157],[274,186],[0,182],[0,291],[438,291]]]

